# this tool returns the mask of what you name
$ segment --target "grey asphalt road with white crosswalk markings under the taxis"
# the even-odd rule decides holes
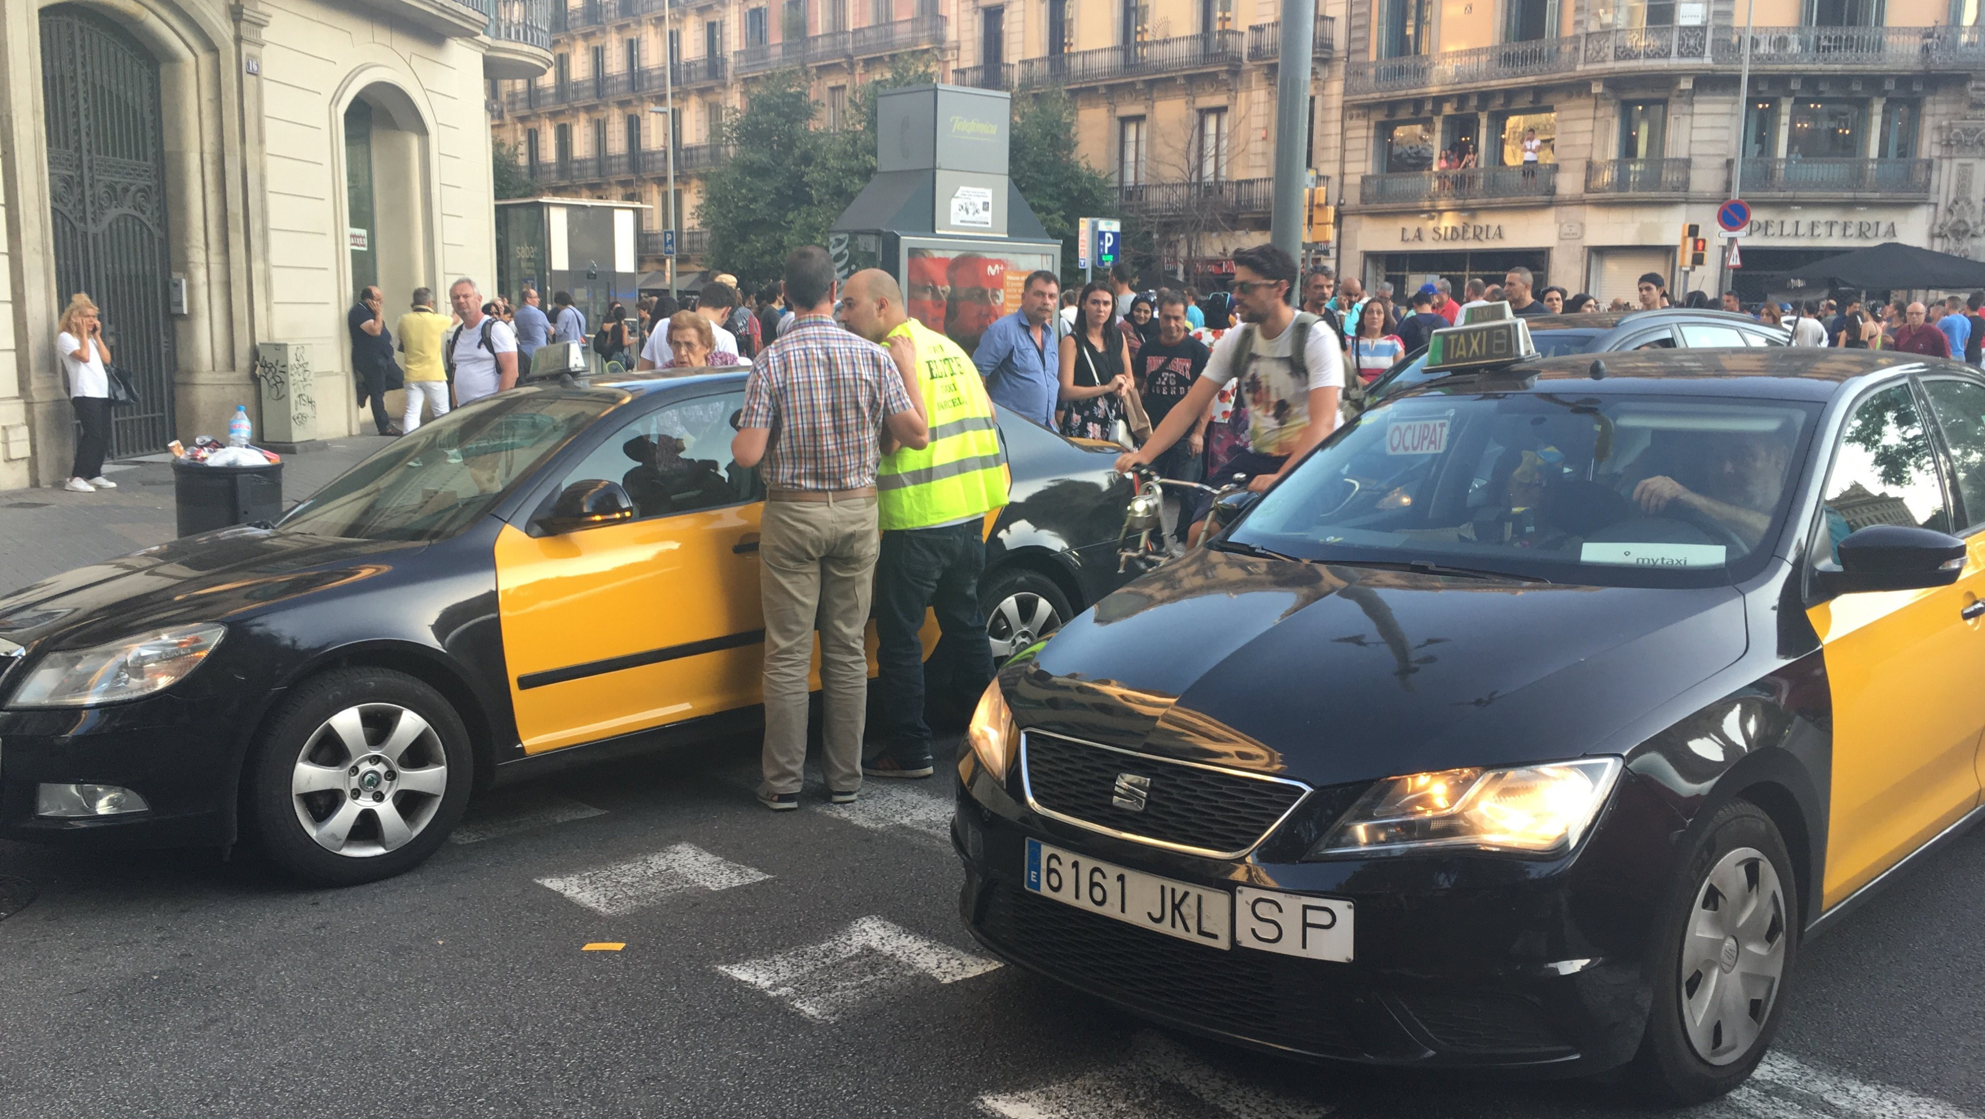
[[[0,1115],[1659,1113],[1153,1030],[973,944],[943,764],[772,815],[754,760],[736,742],[510,790],[419,871],[347,891],[244,855],[0,843]],[[1985,835],[1812,942],[1761,1077],[1691,1115],[1985,1117],[1979,899]]]

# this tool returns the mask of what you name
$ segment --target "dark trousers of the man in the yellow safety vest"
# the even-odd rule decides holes
[[[992,681],[992,645],[987,619],[979,613],[979,573],[985,565],[985,526],[979,518],[881,534],[881,558],[875,561],[877,738],[901,758],[931,750],[919,639],[925,609],[937,613],[943,661],[953,671],[949,686],[977,698]]]

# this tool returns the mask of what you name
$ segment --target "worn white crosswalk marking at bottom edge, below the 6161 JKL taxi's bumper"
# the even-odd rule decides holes
[[[1159,1034],[1137,1034],[1124,1061],[1062,1083],[981,1095],[979,1109],[1000,1119],[1316,1119],[1304,1103],[1255,1087],[1193,1057]]]

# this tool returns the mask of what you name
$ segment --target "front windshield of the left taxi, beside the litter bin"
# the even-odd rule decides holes
[[[445,540],[625,393],[522,389],[395,438],[282,518],[282,532],[351,540]]]

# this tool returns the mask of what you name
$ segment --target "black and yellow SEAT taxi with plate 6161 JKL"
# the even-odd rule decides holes
[[[1000,671],[963,917],[1243,1044],[1713,1097],[1800,942],[1979,817],[1985,377],[1439,333]]]

